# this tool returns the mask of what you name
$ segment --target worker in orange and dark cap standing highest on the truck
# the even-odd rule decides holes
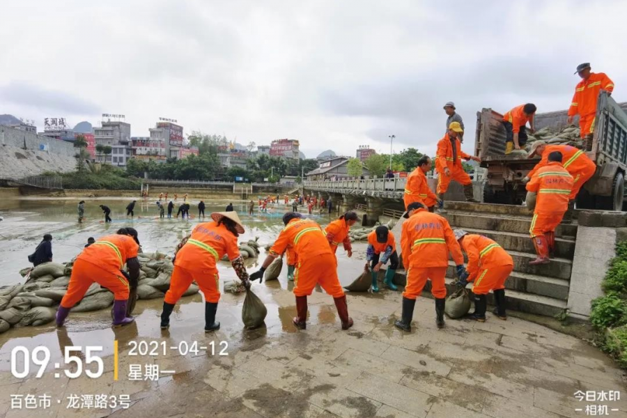
[[[578,65],[575,74],[582,80],[575,86],[573,101],[568,108],[568,123],[573,123],[575,115],[579,115],[581,137],[586,141],[585,149],[591,151],[598,93],[605,90],[611,94],[614,91],[614,82],[604,72],[591,72],[590,63]]]

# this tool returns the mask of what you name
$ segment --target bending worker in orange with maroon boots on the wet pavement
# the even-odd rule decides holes
[[[320,225],[311,219],[302,219],[298,212],[287,212],[283,215],[283,223],[285,228],[274,241],[261,268],[250,275],[251,281],[259,279],[261,283],[263,272],[274,258],[291,247],[298,260],[294,272],[297,311],[297,316],[293,319],[294,325],[301,330],[307,327],[307,296],[311,295],[316,284],[320,284],[333,297],[342,330],[348,330],[353,326],[353,319],[348,316],[346,295],[337,278],[337,262]]]

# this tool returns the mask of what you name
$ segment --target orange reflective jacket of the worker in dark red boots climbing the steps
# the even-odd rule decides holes
[[[538,169],[527,183],[527,190],[538,194],[534,213],[566,212],[573,183],[573,176],[557,161]]]

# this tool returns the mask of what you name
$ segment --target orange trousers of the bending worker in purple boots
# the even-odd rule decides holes
[[[128,300],[128,281],[119,270],[116,272],[104,270],[98,267],[98,265],[78,258],[72,266],[70,284],[68,285],[68,291],[61,300],[61,306],[64,308],[74,307],[75,304],[82,300],[89,286],[94,281],[113,292],[115,300]]]

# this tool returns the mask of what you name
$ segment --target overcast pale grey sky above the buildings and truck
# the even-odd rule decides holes
[[[627,1],[10,1],[0,114],[160,116],[242,144],[300,139],[433,155],[445,102],[464,118],[524,102],[566,109],[585,61],[627,100]]]

